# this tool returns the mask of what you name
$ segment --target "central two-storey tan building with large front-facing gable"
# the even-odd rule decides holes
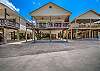
[[[33,19],[36,19],[35,39],[56,39],[66,38],[69,18],[71,12],[50,2],[30,12]],[[64,33],[65,32],[65,33]]]

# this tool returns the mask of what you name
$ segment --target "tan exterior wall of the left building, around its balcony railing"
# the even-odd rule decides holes
[[[7,42],[7,40],[19,40],[20,38],[24,39],[26,38],[26,33],[29,35],[28,37],[31,37],[32,30],[27,29],[26,32],[26,23],[27,20],[25,20],[23,17],[19,16],[19,14],[6,5],[3,5],[0,3],[0,18],[1,20],[5,18],[5,8],[6,12],[9,15],[6,15],[6,19],[8,22],[10,19],[15,19],[15,21],[12,21],[12,24],[16,23],[17,25],[20,24],[20,28],[14,28],[14,27],[9,27],[5,26],[2,30],[0,30],[0,35],[3,36],[3,42]],[[1,21],[2,22],[2,21]],[[12,24],[10,24],[12,26]],[[9,23],[8,23],[9,25]],[[19,26],[19,25],[18,25]],[[0,28],[1,29],[1,28]]]

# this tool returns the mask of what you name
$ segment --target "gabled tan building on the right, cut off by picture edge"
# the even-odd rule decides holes
[[[94,10],[76,17],[70,26],[71,39],[91,39],[100,37],[100,14]]]

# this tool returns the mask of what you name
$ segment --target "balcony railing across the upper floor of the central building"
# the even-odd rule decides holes
[[[36,28],[68,28],[67,23],[37,23]]]

